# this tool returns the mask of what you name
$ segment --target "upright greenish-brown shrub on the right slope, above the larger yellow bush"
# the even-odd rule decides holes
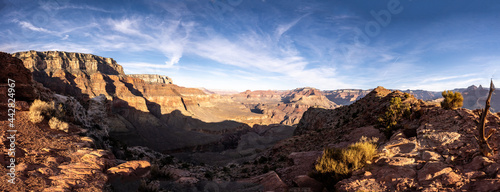
[[[390,137],[392,132],[397,128],[399,121],[403,117],[411,116],[411,107],[408,103],[403,103],[400,97],[391,98],[391,102],[387,111],[383,116],[378,118],[381,127],[385,128],[386,136]]]

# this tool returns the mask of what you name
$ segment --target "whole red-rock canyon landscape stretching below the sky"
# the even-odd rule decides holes
[[[8,64],[2,82],[9,75],[18,82],[20,131],[33,141],[20,144],[26,182],[19,190],[33,182],[41,182],[37,190],[49,191],[139,186],[331,190],[309,175],[321,150],[347,147],[362,137],[377,138],[383,153],[370,169],[353,173],[335,190],[500,190],[495,188],[500,186],[498,155],[475,155],[478,114],[473,110],[484,107],[489,91],[482,86],[455,89],[464,96],[464,108],[447,111],[430,102],[441,98],[441,92],[425,90],[304,87],[234,93],[178,86],[164,75],[125,74],[115,60],[92,54],[25,51],[0,56]],[[0,90],[7,91],[5,86]],[[404,129],[387,137],[378,118],[396,97],[412,111],[400,122]],[[493,111],[500,109],[498,97],[491,99]],[[29,103],[35,99],[62,106],[64,120],[71,123],[69,133],[50,130],[47,122],[28,122]],[[7,104],[0,108],[4,113]],[[488,129],[497,130],[498,114],[489,121]],[[440,139],[444,137],[451,139]],[[499,139],[497,131],[491,142],[496,151]],[[54,147],[35,147],[46,140]],[[70,174],[80,168],[85,171],[78,178]],[[35,181],[36,176],[42,179]],[[79,185],[75,179],[84,182]],[[125,185],[127,181],[133,182]]]

